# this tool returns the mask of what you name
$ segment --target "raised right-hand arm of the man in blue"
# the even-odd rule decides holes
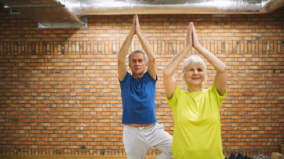
[[[138,16],[136,15],[136,35],[138,36],[139,41],[141,42],[141,45],[144,49],[144,51],[146,52],[147,56],[148,56],[148,73],[151,75],[152,78],[156,78],[156,74],[157,74],[157,69],[155,66],[155,54],[153,52],[153,49],[151,47],[151,45],[149,45],[149,43],[147,42],[147,40],[145,39],[145,37],[143,37],[141,30],[140,30],[140,25],[139,25],[139,20],[138,20]]]

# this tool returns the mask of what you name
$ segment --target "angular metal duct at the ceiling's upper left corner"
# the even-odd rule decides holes
[[[5,4],[4,8],[13,8],[23,16],[49,28],[58,25],[60,27],[85,26],[82,17],[75,16],[57,0],[0,0],[0,3]]]

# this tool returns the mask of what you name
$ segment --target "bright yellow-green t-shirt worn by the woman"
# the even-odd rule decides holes
[[[167,100],[168,96],[165,95]],[[220,96],[215,84],[197,93],[180,90],[178,83],[173,98],[173,159],[224,159],[219,109],[226,90]]]

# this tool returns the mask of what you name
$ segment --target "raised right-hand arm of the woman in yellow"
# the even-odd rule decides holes
[[[216,76],[214,78],[215,87],[219,93],[219,95],[224,95],[224,91],[226,90],[226,65],[214,56],[211,52],[208,52],[207,49],[204,49],[200,43],[198,42],[198,37],[196,34],[195,26],[192,25],[192,36],[193,36],[193,44],[192,46],[202,54],[202,56],[209,61],[210,64],[217,71]]]

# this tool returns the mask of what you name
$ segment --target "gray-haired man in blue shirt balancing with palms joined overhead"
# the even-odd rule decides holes
[[[129,54],[131,75],[126,70],[125,57],[135,34],[146,53],[135,50]],[[131,31],[119,51],[118,65],[123,103],[123,140],[127,158],[145,159],[146,153],[154,147],[163,151],[157,159],[172,159],[173,137],[164,131],[163,124],[158,124],[155,117],[155,54],[141,34],[137,15],[134,16]],[[147,66],[148,71],[144,73]]]

